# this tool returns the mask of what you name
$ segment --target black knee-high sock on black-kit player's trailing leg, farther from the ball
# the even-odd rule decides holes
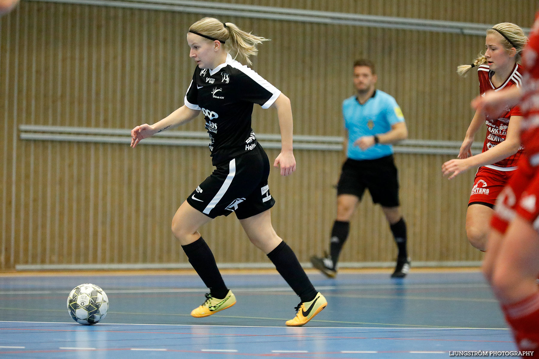
[[[301,268],[294,251],[288,247],[285,241],[279,243],[267,256],[275,264],[275,268],[286,280],[286,283],[299,295],[302,302],[311,301],[316,297],[317,292],[313,284],[310,283],[307,274]]]

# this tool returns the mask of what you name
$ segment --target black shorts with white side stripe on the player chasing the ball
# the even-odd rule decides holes
[[[269,160],[258,143],[254,149],[216,166],[187,198],[187,202],[206,216],[215,218],[236,212],[238,219],[272,208],[269,194]]]

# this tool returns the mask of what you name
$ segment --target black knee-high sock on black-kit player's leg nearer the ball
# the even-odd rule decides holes
[[[217,268],[217,263],[215,263],[215,257],[204,239],[200,237],[193,243],[182,245],[182,249],[198,276],[201,277],[206,287],[210,288],[212,297],[224,299],[229,289],[226,287]]]

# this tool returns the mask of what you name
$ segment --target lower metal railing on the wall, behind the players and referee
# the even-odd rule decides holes
[[[23,140],[118,143],[131,142],[129,129],[107,129],[72,126],[19,125],[19,138]],[[257,139],[266,149],[280,149],[281,135],[261,133]],[[342,151],[340,136],[295,135],[295,150]],[[165,131],[144,139],[143,144],[167,146],[208,146],[208,133],[203,131]],[[459,153],[461,142],[447,140],[407,139],[393,146],[395,153],[453,154]],[[482,143],[474,142],[472,152],[479,153]]]

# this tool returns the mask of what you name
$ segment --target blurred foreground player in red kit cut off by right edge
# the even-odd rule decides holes
[[[539,12],[523,52],[522,88],[490,91],[472,103],[495,115],[519,104],[524,152],[496,201],[483,272],[520,350],[539,356]]]

